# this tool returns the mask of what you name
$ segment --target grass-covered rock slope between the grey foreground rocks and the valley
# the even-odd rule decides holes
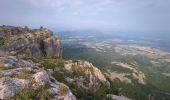
[[[34,59],[60,82],[70,87],[78,99],[91,100],[106,98],[110,91],[110,82],[103,73],[90,62],[82,60],[62,60],[55,58]]]

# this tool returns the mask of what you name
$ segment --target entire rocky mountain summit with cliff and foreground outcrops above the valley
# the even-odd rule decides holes
[[[0,99],[129,100],[92,63],[61,56],[46,28],[0,26]]]

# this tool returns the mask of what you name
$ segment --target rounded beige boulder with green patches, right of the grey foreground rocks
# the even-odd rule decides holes
[[[65,62],[64,68],[68,73],[68,76],[65,75],[68,83],[76,84],[76,86],[80,88],[94,92],[97,91],[101,85],[109,88],[110,84],[102,72],[87,61],[68,60]]]

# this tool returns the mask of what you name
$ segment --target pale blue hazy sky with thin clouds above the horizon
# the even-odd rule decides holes
[[[170,0],[0,0],[0,25],[170,33]]]

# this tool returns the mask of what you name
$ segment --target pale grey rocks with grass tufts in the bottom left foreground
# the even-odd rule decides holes
[[[41,69],[37,64],[13,56],[0,57],[0,99],[12,98],[20,91],[32,89],[33,92],[44,87],[45,99],[76,100],[71,90],[64,83],[60,83]],[[33,97],[40,98],[42,94]]]

